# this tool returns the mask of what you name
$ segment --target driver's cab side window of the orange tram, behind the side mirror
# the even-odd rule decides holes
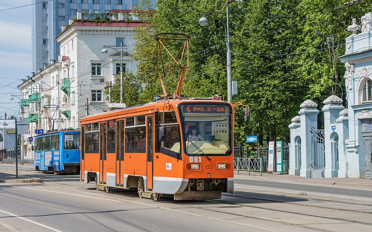
[[[164,125],[166,129],[166,141],[159,141],[159,127]],[[155,152],[161,152],[180,159],[181,143],[180,130],[177,122],[176,112],[155,112]]]

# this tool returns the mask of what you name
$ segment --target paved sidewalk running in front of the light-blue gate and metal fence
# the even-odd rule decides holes
[[[250,172],[248,176],[248,171],[234,171],[234,177],[240,179],[265,179],[273,180],[277,182],[302,182],[302,183],[312,183],[312,184],[329,184],[329,185],[339,185],[348,187],[361,187],[372,189],[372,179],[362,179],[362,178],[316,178],[316,179],[305,179],[301,176],[293,176],[289,174],[267,174],[256,172]]]

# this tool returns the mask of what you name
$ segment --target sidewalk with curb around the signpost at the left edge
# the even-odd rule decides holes
[[[5,168],[10,166],[11,168]],[[0,183],[31,183],[42,182],[42,179],[35,178],[25,172],[25,170],[34,170],[31,165],[18,165],[18,179],[16,178],[16,165],[15,164],[2,164],[0,163]],[[21,174],[22,173],[22,174]]]

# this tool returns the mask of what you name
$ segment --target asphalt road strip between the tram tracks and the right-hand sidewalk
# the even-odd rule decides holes
[[[270,180],[234,179],[235,188],[259,187],[267,190],[287,190],[299,193],[316,193],[334,197],[360,197],[372,200],[372,189],[340,187],[326,184],[303,184],[298,182],[276,182]]]

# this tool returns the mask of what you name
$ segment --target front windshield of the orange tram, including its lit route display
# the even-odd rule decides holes
[[[232,108],[225,103],[184,103],[179,106],[183,147],[187,156],[230,156]]]

